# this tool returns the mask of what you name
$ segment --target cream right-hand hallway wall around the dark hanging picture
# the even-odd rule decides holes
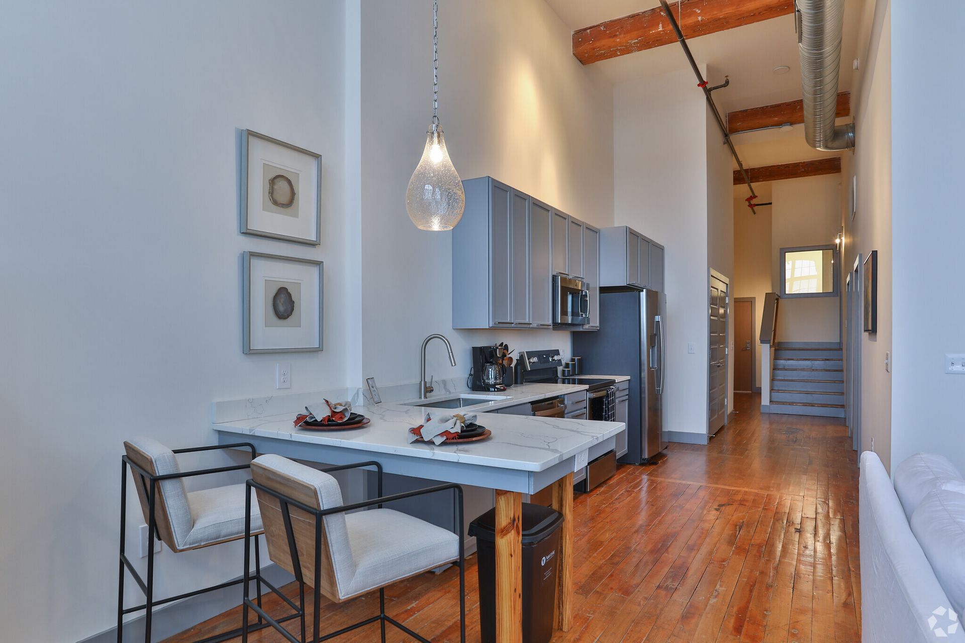
[[[892,375],[885,370],[885,353],[892,350],[892,19],[890,2],[870,2],[865,16],[864,50],[858,91],[852,92],[856,147],[845,154],[845,182],[858,177],[858,208],[844,216],[843,267],[852,270],[878,251],[878,332],[862,333],[861,445],[871,449],[890,469],[892,459]],[[850,190],[844,190],[850,193]],[[850,200],[848,200],[849,202]],[[930,304],[930,302],[929,302]],[[930,308],[930,306],[929,306]],[[924,305],[917,308],[919,314]],[[930,313],[926,313],[929,322]],[[858,320],[856,320],[857,323]],[[847,353],[845,352],[845,356]]]

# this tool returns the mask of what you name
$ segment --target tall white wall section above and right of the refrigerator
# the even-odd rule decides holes
[[[618,226],[666,246],[664,429],[706,435],[707,118],[695,85],[688,69],[614,88],[614,206]]]

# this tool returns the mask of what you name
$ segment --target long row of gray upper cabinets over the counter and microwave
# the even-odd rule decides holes
[[[598,230],[490,176],[462,185],[466,209],[453,229],[453,328],[553,328],[552,276],[584,278],[584,266],[593,274],[584,253],[589,261],[599,256]]]

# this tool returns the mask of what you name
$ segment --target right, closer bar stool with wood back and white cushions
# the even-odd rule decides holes
[[[330,472],[374,467],[378,471],[378,496],[371,500],[343,504],[342,490]],[[262,606],[248,598],[244,583],[241,616],[241,641],[248,640],[248,610],[278,630],[291,643],[306,643],[305,585],[313,588],[315,607],[314,636],[323,641],[381,622],[382,641],[385,624],[391,623],[423,643],[429,641],[385,613],[385,587],[410,576],[452,563],[459,568],[459,635],[466,640],[465,552],[462,540],[462,488],[456,484],[438,485],[405,494],[382,496],[382,468],[376,462],[363,462],[328,469],[312,469],[278,455],[262,455],[251,463],[249,489],[255,489],[264,524],[268,553],[276,565],[288,570],[299,584],[299,604],[274,591],[301,617],[301,639],[265,614]],[[456,498],[455,532],[421,521],[382,505],[406,497],[450,491]],[[376,507],[376,508],[372,508]],[[346,514],[355,509],[368,509]],[[256,507],[246,495],[245,530],[254,533]],[[244,580],[249,579],[249,541],[245,539]],[[256,561],[255,578],[261,576]],[[333,603],[378,590],[379,613],[338,631],[320,633],[320,600],[324,594]]]

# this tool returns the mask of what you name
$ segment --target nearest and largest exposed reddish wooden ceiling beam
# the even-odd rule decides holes
[[[745,24],[794,13],[793,0],[683,0],[671,12],[684,37],[697,38]],[[660,7],[584,27],[573,32],[573,55],[584,65],[676,42]]]

